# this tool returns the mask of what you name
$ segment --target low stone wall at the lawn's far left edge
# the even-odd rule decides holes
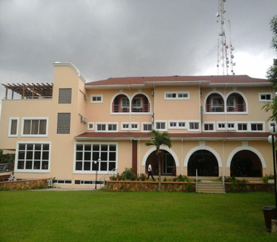
[[[0,182],[0,190],[30,190],[30,189],[44,189],[46,188],[47,179],[39,180],[12,180]]]

